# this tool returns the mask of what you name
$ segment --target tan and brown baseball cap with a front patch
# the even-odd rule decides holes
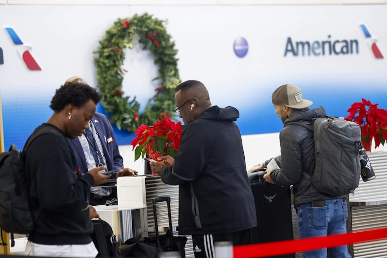
[[[313,104],[312,101],[304,100],[301,89],[292,84],[284,84],[278,87],[271,96],[271,102],[277,106],[303,109]]]

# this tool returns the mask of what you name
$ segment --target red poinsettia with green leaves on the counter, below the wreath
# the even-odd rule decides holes
[[[174,157],[180,146],[181,132],[181,122],[175,123],[167,115],[153,126],[140,125],[135,132],[137,138],[131,142],[133,149],[138,144],[134,151],[134,160],[140,156],[144,158],[145,154],[154,160],[164,155]]]

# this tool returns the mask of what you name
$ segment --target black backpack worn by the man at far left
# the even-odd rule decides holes
[[[27,140],[23,152],[38,136],[59,132],[52,127],[36,130]],[[29,234],[34,229],[34,217],[29,205],[29,191],[21,161],[21,152],[16,145],[0,153],[0,233],[4,243],[3,230],[11,233],[11,246],[15,246],[14,233]],[[34,214],[35,215],[35,214]]]

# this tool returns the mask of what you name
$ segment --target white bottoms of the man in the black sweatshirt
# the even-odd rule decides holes
[[[27,242],[24,254],[27,256],[50,257],[95,257],[98,250],[93,242],[88,244],[38,244]]]

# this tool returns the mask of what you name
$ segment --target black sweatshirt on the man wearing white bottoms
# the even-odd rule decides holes
[[[38,215],[28,239],[39,244],[88,244],[93,226],[87,194],[91,175],[77,176],[74,153],[62,131],[38,136],[22,153],[33,214]]]

